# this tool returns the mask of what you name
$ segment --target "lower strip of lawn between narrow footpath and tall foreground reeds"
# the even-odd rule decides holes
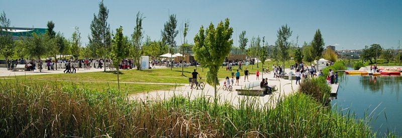
[[[61,87],[76,87],[76,88],[89,88],[97,91],[106,91],[108,88],[118,88],[117,83],[115,82],[82,82],[82,81],[49,81],[49,80],[35,80],[35,79],[0,79],[0,83],[17,82],[20,84],[29,84],[29,83],[42,83],[42,84],[54,84]],[[140,93],[140,92],[149,92],[153,90],[162,90],[168,89],[175,86],[180,85],[165,85],[165,84],[135,84],[135,83],[120,83],[120,87],[122,91],[126,90],[129,94]]]

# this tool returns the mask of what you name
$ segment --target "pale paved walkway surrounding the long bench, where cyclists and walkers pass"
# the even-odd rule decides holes
[[[289,72],[289,69],[286,69],[286,72]],[[280,81],[276,80],[273,77],[273,74],[265,74],[264,77],[268,77],[268,84],[274,84],[277,86],[277,91],[267,94],[264,96],[245,96],[245,95],[239,95],[237,94],[237,91],[235,91],[236,88],[240,88],[242,85],[246,84],[244,82],[244,76],[240,77],[239,85],[233,85],[233,90],[232,91],[227,91],[223,90],[222,86],[224,83],[224,79],[220,80],[220,85],[217,86],[217,95],[220,99],[221,103],[224,102],[230,102],[233,105],[238,105],[239,102],[242,99],[252,99],[257,102],[257,104],[260,107],[263,107],[265,104],[274,107],[279,99],[279,97],[283,97],[285,95],[289,95],[293,92],[295,92],[298,89],[298,85],[295,84],[295,80],[291,81],[288,79],[280,79]],[[261,75],[259,80],[256,80],[256,75],[250,75],[249,76],[249,81],[261,81]],[[205,80],[204,80],[205,81]],[[129,95],[130,99],[132,100],[160,100],[160,99],[165,99],[165,98],[170,98],[173,95],[183,95],[186,97],[190,97],[191,99],[194,99],[199,96],[206,96],[206,97],[212,97],[211,99],[214,99],[213,97],[215,96],[215,91],[214,87],[206,84],[204,90],[201,89],[191,89],[189,84],[185,84],[180,87],[175,87],[171,88],[168,90],[156,90],[156,91],[151,91],[147,93],[136,93]],[[250,98],[251,97],[251,98]]]

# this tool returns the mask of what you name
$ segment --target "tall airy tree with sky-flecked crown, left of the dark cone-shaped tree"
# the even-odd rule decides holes
[[[285,61],[289,59],[289,37],[292,35],[292,31],[287,24],[282,25],[278,29],[278,34],[276,35],[278,38],[275,41],[275,45],[277,45],[278,52],[279,52],[279,59],[283,62],[283,67],[285,66]]]

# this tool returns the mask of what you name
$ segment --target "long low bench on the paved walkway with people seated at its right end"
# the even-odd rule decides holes
[[[269,85],[272,88],[272,91],[276,91],[276,85]],[[240,89],[236,89],[237,94],[239,95],[257,95],[263,96],[264,95],[264,87],[260,87],[260,81],[252,81],[246,83],[245,86],[240,87]],[[272,92],[271,91],[271,92]]]

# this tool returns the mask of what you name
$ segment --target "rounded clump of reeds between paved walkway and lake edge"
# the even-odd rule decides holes
[[[331,93],[331,87],[327,84],[325,77],[305,79],[298,88],[299,92],[311,95],[321,103],[326,103]]]

